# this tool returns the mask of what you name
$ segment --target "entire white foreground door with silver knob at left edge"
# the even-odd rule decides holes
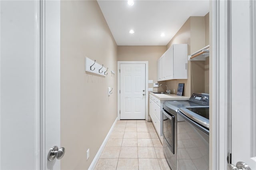
[[[40,13],[42,12],[42,13]],[[0,1],[0,169],[60,169],[60,1]]]

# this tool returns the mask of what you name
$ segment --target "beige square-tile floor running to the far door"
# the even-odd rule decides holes
[[[170,170],[151,122],[120,120],[94,170]]]

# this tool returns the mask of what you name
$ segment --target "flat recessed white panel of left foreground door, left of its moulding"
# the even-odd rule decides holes
[[[40,168],[39,1],[0,1],[0,169]]]

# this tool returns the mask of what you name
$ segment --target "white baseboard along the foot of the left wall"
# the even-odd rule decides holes
[[[104,139],[103,143],[101,144],[100,149],[98,150],[97,154],[95,155],[94,159],[92,160],[92,163],[91,163],[90,167],[88,168],[88,170],[94,170],[98,160],[100,159],[100,155],[102,154],[102,152],[103,152],[103,150],[104,150],[104,148],[105,148],[105,146],[108,142],[108,139],[109,139],[109,137],[110,137],[115,125],[116,125],[116,121],[117,121],[117,118],[114,121],[110,130],[108,131],[108,134],[107,134],[106,138]]]

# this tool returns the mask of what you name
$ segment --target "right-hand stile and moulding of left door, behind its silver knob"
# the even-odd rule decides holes
[[[60,170],[60,160],[48,160],[53,146],[60,149],[60,0],[43,0],[44,23],[42,24],[41,46],[41,142],[42,169]],[[44,152],[44,153],[43,153]],[[61,152],[61,151],[60,151]]]

